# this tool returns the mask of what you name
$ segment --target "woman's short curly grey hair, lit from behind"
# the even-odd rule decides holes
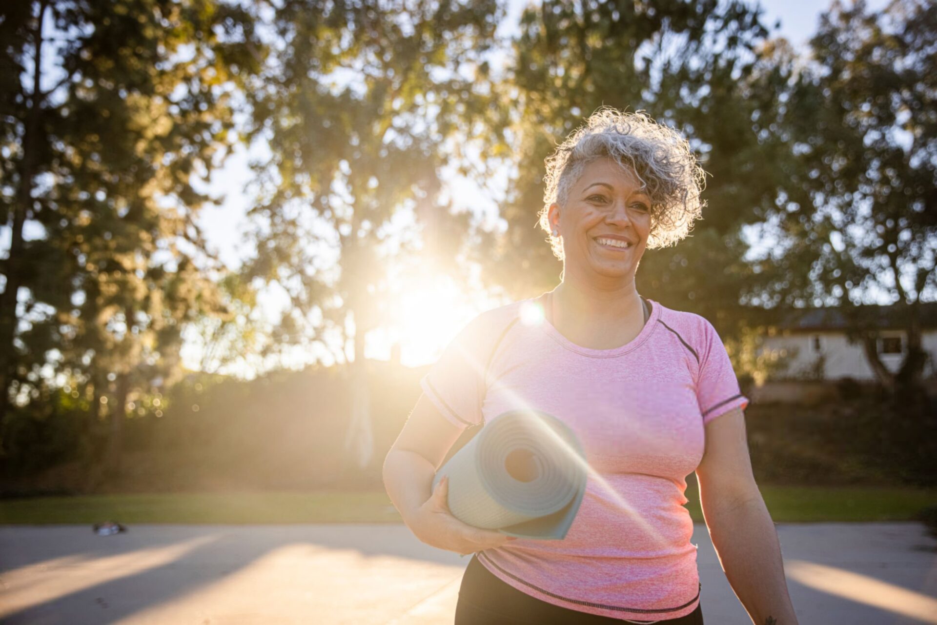
[[[563,259],[563,246],[550,229],[550,205],[557,202],[565,206],[587,163],[602,157],[614,158],[622,168],[633,171],[650,196],[647,249],[675,245],[690,233],[693,222],[703,213],[705,202],[700,192],[706,186],[706,172],[697,164],[689,141],[644,112],[600,107],[544,161],[546,188],[540,226],[550,234],[550,245],[559,260]]]

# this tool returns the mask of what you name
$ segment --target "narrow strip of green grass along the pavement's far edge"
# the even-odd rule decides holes
[[[937,489],[762,486],[771,517],[783,522],[908,521],[937,505]],[[687,508],[702,521],[695,489]],[[383,492],[169,493],[0,500],[0,524],[398,523]]]

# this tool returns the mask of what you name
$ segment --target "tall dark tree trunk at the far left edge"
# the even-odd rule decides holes
[[[10,232],[7,256],[7,284],[0,293],[0,424],[9,409],[9,388],[15,374],[16,352],[13,337],[16,335],[16,308],[22,286],[22,227],[26,221],[29,204],[33,196],[33,174],[36,167],[37,135],[42,109],[42,91],[39,88],[42,76],[42,22],[45,18],[46,2],[39,3],[36,30],[34,31],[33,95],[29,102],[29,115],[22,137],[22,161],[16,201],[13,203],[13,225]]]

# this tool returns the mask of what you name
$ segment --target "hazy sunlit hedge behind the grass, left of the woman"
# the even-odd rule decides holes
[[[345,463],[351,394],[344,367],[252,380],[193,374],[158,397],[157,407],[156,397],[138,400],[116,474],[102,473],[107,450],[94,444],[97,422],[65,406],[46,419],[17,413],[10,454],[0,458],[0,492],[379,487],[384,455],[416,403],[424,369],[368,365],[366,393],[380,410],[377,452],[364,469]]]

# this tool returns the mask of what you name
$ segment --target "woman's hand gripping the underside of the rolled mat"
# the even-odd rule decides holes
[[[410,529],[426,544],[467,555],[513,541],[493,529],[474,528],[449,512],[449,476],[439,480],[429,499],[411,519]]]

